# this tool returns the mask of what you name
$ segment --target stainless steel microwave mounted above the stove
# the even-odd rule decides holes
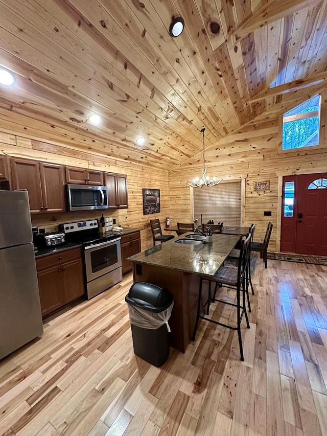
[[[65,188],[68,211],[108,209],[108,190],[105,186],[68,184]]]

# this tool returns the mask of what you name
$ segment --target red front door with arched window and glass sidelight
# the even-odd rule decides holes
[[[327,173],[283,177],[281,250],[327,256]]]

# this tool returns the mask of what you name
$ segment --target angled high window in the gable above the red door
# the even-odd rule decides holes
[[[283,117],[283,150],[319,144],[320,95],[299,104]]]

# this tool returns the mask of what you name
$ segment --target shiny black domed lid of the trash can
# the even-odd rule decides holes
[[[173,300],[173,295],[167,288],[146,282],[135,282],[125,297],[126,303],[151,312],[162,312],[168,309]]]

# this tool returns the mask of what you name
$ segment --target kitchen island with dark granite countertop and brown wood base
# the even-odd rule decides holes
[[[167,288],[174,297],[169,324],[171,346],[185,352],[194,329],[199,291],[199,274],[214,277],[239,236],[213,235],[213,241],[189,245],[185,233],[128,258],[133,263],[133,280]]]

